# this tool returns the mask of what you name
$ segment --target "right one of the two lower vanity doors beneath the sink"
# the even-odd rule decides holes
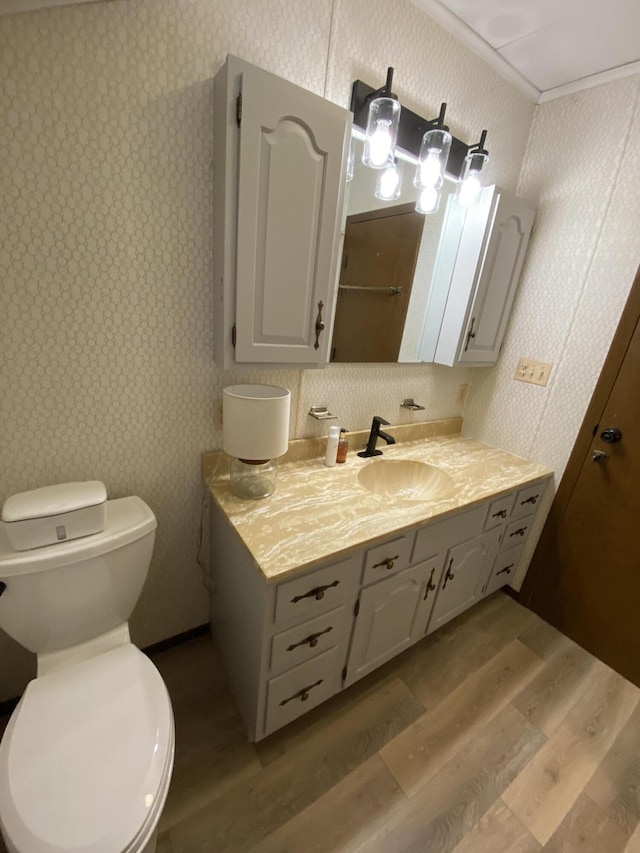
[[[482,590],[498,549],[500,528],[489,530],[447,553],[428,633],[435,631],[482,597]]]

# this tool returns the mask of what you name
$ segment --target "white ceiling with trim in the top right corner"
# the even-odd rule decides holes
[[[640,0],[413,0],[546,101],[640,73]]]

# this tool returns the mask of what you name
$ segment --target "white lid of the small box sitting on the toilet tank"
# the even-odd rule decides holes
[[[11,524],[32,518],[61,515],[103,504],[106,499],[107,490],[99,480],[43,486],[7,498],[2,507],[2,520]]]

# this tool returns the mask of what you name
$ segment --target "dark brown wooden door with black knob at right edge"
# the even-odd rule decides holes
[[[635,291],[640,296],[640,276]],[[640,299],[636,302],[640,308]],[[545,525],[523,596],[544,619],[640,686],[637,316],[632,329],[608,398],[585,422],[591,440],[582,447],[577,478],[566,501],[561,495],[563,486],[566,489],[563,479],[560,501],[556,499]],[[607,435],[607,430],[619,430],[621,439],[607,442],[605,438],[617,437]],[[570,466],[571,462],[568,475]]]

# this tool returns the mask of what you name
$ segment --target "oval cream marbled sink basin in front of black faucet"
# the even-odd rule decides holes
[[[436,501],[454,487],[446,471],[415,459],[376,459],[362,468],[358,481],[374,495],[408,501]]]

